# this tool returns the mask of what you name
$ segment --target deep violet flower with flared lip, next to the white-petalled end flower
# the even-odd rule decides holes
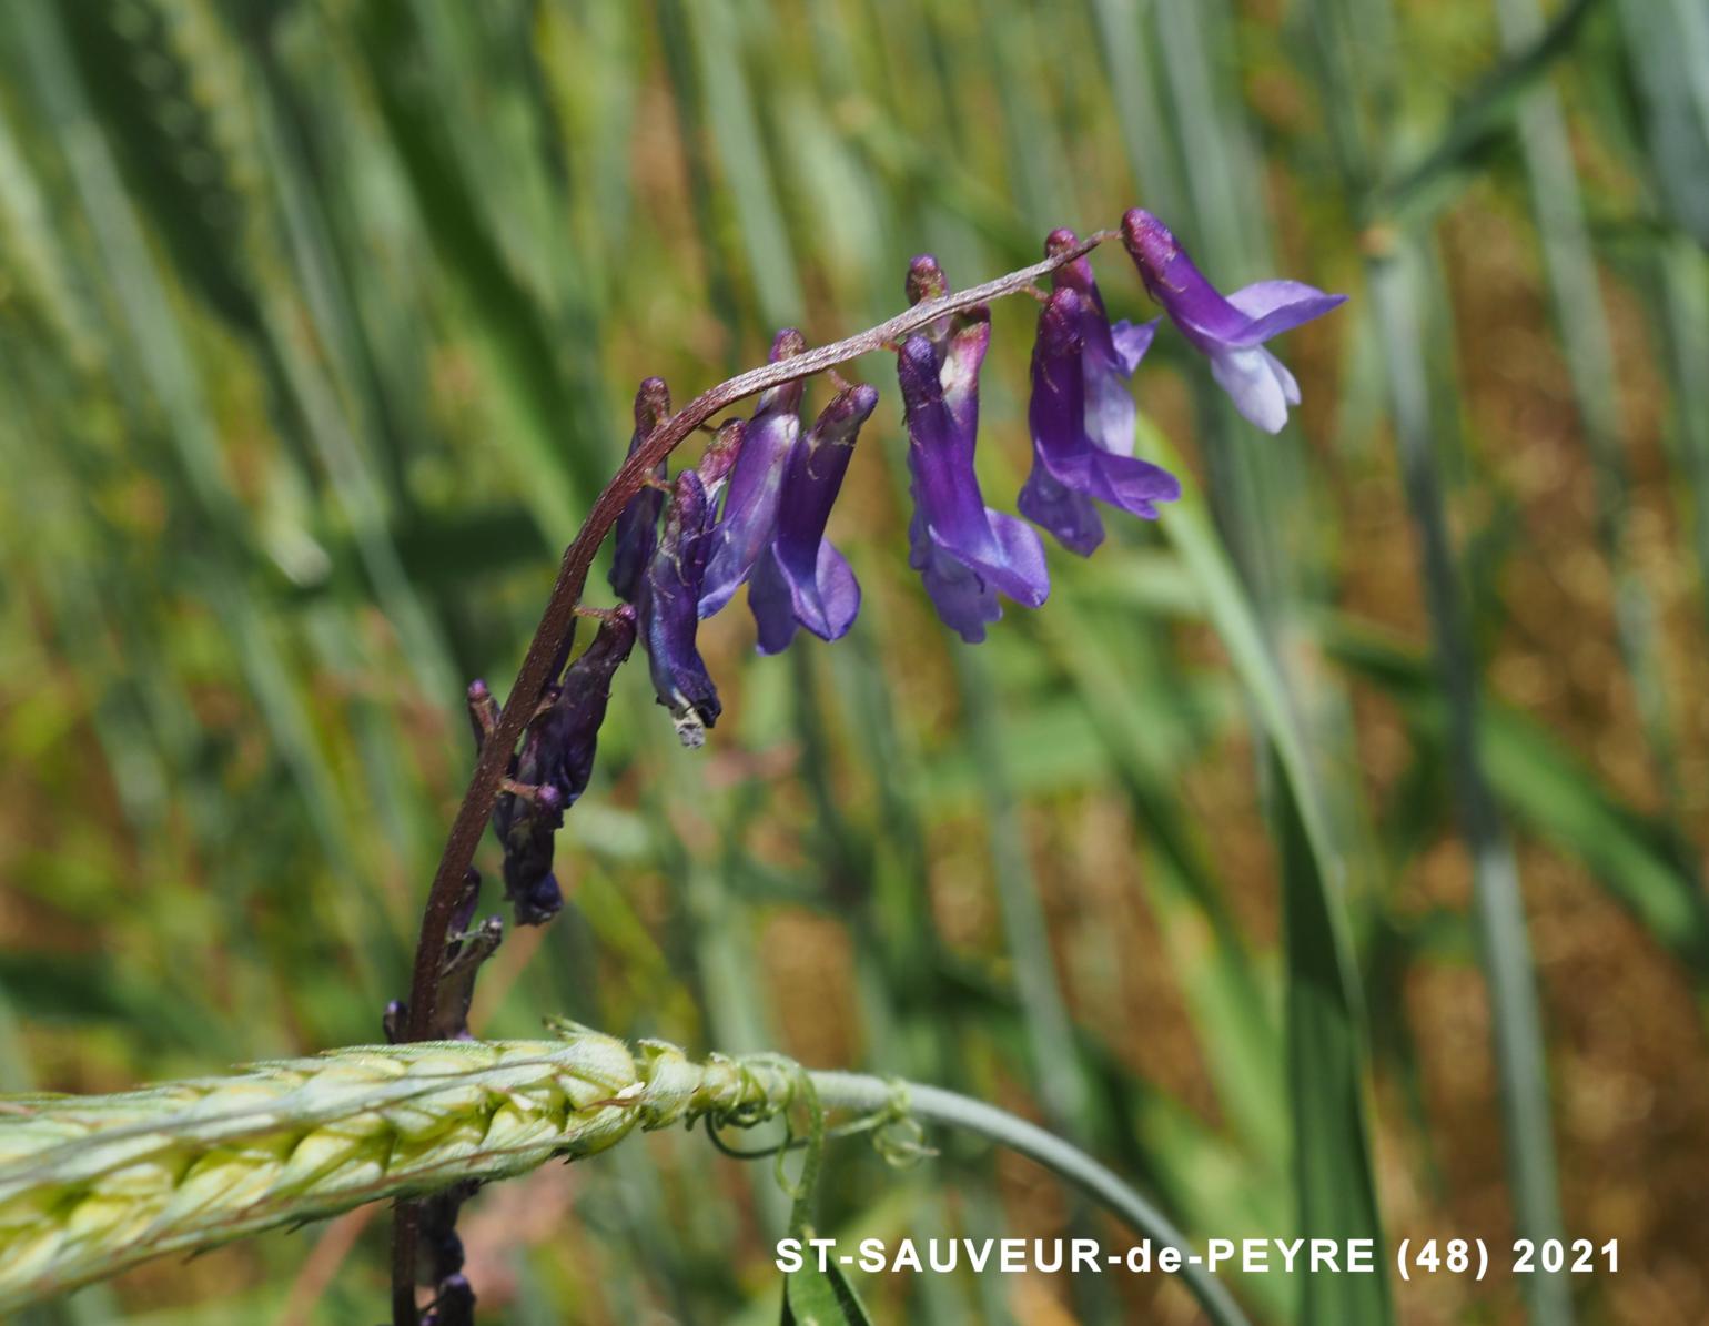
[[[1172,473],[1130,455],[1131,412],[1125,424],[1126,449],[1118,453],[1099,444],[1102,427],[1119,412],[1094,414],[1090,408],[1087,361],[1092,343],[1087,323],[1104,328],[1109,337],[1102,311],[1094,311],[1090,299],[1072,285],[1058,289],[1039,313],[1039,337],[1032,347],[1032,402],[1027,407],[1032,473],[1020,490],[1022,514],[1082,557],[1104,542],[1104,521],[1092,499],[1155,519],[1157,502],[1181,496],[1181,484]]]

